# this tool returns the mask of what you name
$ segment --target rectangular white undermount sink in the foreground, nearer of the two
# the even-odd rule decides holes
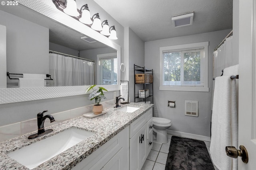
[[[69,128],[7,155],[27,168],[33,169],[93,134],[82,129]]]

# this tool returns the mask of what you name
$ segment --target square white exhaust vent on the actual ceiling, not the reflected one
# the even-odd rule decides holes
[[[172,22],[174,24],[174,27],[183,27],[187,25],[192,25],[193,17],[194,17],[194,12],[188,12],[185,14],[172,16]]]

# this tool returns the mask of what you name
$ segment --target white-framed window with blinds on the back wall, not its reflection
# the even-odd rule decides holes
[[[208,44],[160,47],[160,90],[209,92]]]

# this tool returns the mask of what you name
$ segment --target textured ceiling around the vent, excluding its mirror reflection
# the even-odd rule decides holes
[[[143,41],[232,29],[232,0],[94,1]],[[186,12],[194,12],[193,25],[174,28],[171,17]]]

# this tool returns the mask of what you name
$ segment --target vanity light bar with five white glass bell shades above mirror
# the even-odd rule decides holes
[[[90,26],[92,29],[108,37],[109,39],[118,39],[116,37],[115,27],[111,26],[110,28],[112,29],[107,30],[108,29],[107,20],[101,23],[98,13],[94,14],[92,18],[90,18],[90,10],[87,4],[83,5],[81,9],[78,10],[76,6],[76,0],[53,0],[53,2],[56,8],[58,8],[58,10],[68,14],[72,18],[80,21],[81,23],[84,23],[85,25]],[[69,6],[69,4],[71,4],[72,6]]]

